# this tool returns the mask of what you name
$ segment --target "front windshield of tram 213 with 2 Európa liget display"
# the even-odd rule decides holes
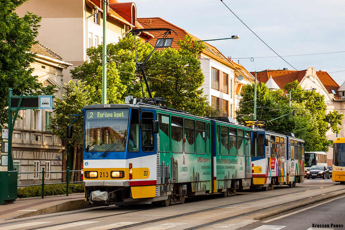
[[[86,110],[85,151],[125,151],[128,117],[128,109]]]

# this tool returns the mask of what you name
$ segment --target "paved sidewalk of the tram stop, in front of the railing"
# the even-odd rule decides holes
[[[84,193],[17,199],[0,204],[0,221],[92,207],[88,203]]]

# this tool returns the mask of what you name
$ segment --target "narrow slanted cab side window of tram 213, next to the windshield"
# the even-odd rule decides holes
[[[128,135],[128,151],[138,152],[139,151],[139,110],[132,109],[129,135]]]

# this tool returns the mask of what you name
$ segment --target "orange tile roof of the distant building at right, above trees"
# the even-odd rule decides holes
[[[284,85],[291,83],[295,80],[300,82],[307,70],[263,70],[263,71],[270,71],[270,72],[257,72],[256,79],[259,82],[266,83],[270,76],[272,76],[273,80],[277,83],[280,89],[284,90]],[[255,76],[255,72],[250,72]],[[317,77],[320,79],[321,83],[327,89],[328,93],[332,94],[331,89],[334,89],[337,94],[334,95],[336,99],[340,99],[340,96],[337,92],[339,85],[333,80],[331,76],[325,71],[316,71]],[[284,92],[286,92],[284,90]]]

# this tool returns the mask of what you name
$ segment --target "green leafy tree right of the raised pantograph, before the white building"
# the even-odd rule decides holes
[[[206,47],[188,35],[178,44],[179,49],[157,51],[147,62],[145,71],[151,90],[157,97],[168,100],[168,107],[198,116],[217,116],[219,111],[209,106],[200,88],[204,74],[198,55]]]

